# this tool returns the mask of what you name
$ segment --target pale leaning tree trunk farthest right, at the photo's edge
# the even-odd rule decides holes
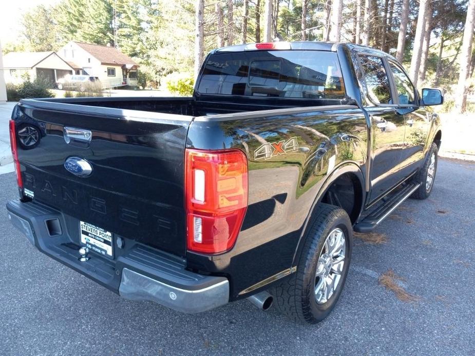
[[[455,94],[455,109],[464,113],[467,106],[465,84],[468,78],[470,56],[472,54],[473,25],[475,24],[475,0],[469,0],[467,18],[465,19],[464,36],[462,40],[462,55],[460,56],[460,75]]]

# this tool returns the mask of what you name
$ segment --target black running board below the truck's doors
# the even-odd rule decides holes
[[[404,188],[397,191],[393,196],[386,200],[381,206],[377,207],[373,212],[371,212],[371,214],[366,216],[365,219],[357,223],[353,227],[353,230],[363,233],[371,232],[420,186],[420,183],[406,185]]]

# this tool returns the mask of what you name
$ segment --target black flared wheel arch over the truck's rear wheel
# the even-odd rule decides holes
[[[340,182],[341,180],[351,180],[353,185],[353,190],[355,192],[355,201],[354,205],[349,212],[347,209],[344,210],[349,212],[350,220],[352,224],[355,224],[359,219],[359,215],[363,212],[365,200],[366,200],[366,190],[365,190],[365,179],[362,171],[355,162],[344,162],[334,168],[334,170],[327,176],[325,182],[320,187],[315,200],[310,208],[310,211],[307,215],[307,219],[303,223],[297,247],[295,249],[292,266],[296,266],[298,259],[300,258],[302,246],[305,244],[305,239],[309,228],[311,227],[315,217],[318,214],[319,204],[327,196],[327,193],[331,191],[331,188]]]

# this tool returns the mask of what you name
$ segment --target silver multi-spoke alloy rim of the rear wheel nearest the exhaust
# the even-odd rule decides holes
[[[346,239],[340,228],[333,229],[325,240],[315,271],[314,294],[317,304],[325,304],[335,293],[345,266]]]

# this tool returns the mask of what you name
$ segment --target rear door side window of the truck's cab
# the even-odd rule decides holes
[[[364,55],[360,56],[359,60],[365,75],[370,100],[374,104],[394,104],[391,99],[391,87],[383,58]]]

